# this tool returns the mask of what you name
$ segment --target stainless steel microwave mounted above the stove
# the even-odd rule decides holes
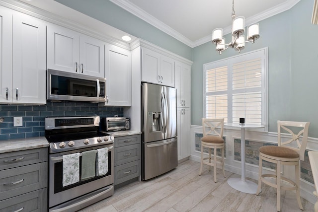
[[[46,77],[48,100],[106,101],[106,78],[51,69]]]

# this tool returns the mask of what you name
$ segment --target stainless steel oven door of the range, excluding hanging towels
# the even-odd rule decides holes
[[[63,159],[62,156],[92,149],[108,147],[108,172],[103,176],[95,176],[88,180],[79,181],[63,187]],[[76,199],[82,195],[114,183],[114,154],[113,144],[100,145],[79,150],[59,152],[49,155],[49,208]],[[81,174],[81,156],[79,158],[79,175]],[[79,177],[80,179],[80,177]],[[112,189],[113,191],[113,189]],[[112,195],[112,194],[111,194]]]

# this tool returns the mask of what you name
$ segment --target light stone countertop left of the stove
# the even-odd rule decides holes
[[[48,146],[49,142],[46,140],[45,137],[6,140],[0,141],[0,153],[43,148]]]

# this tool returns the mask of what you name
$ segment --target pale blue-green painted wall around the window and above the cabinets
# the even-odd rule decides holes
[[[191,49],[108,0],[56,1],[192,60],[191,124],[201,125],[203,64],[236,55],[234,50],[220,56],[211,42]],[[277,132],[277,120],[310,121],[309,135],[318,138],[318,25],[311,24],[313,4],[314,0],[301,0],[290,10],[260,21],[261,37],[243,50],[268,47],[270,132]]]

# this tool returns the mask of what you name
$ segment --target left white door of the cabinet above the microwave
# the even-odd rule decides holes
[[[48,25],[47,68],[79,72],[79,33],[54,24]]]

